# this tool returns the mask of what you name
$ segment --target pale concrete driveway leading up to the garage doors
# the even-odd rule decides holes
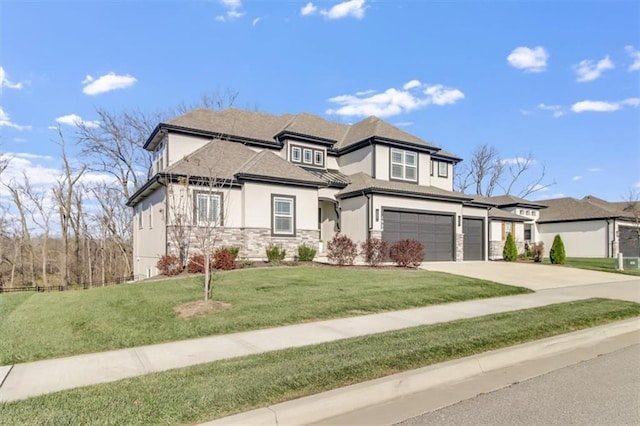
[[[640,279],[612,272],[511,262],[424,262],[422,269],[517,285],[539,291],[601,283],[637,284]]]

